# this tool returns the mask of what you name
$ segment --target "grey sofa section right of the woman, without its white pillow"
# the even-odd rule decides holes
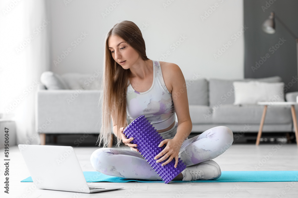
[[[234,81],[277,83],[278,76],[260,79],[198,79],[186,80],[192,132],[204,132],[214,126],[227,126],[233,132],[258,132],[263,113],[263,105],[234,105]],[[298,92],[285,94],[285,101],[296,102]],[[297,112],[297,110],[296,110]],[[263,132],[294,132],[291,108],[271,106],[267,109]]]

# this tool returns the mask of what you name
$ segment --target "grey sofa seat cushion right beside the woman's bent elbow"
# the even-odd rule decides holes
[[[193,124],[212,123],[212,111],[209,106],[189,105],[189,114]]]

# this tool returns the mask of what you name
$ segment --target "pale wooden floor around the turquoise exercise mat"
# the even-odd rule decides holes
[[[90,162],[91,153],[98,147],[77,147],[75,152],[83,171],[95,171]],[[128,149],[128,148],[122,148]],[[234,144],[221,156],[214,159],[222,171],[255,171],[259,161],[265,161],[266,155],[271,156],[257,170],[298,170],[298,149],[295,144]],[[30,176],[17,146],[10,147],[10,194],[3,191],[4,180],[4,149],[0,149],[1,195],[0,197],[297,197],[298,182],[231,182],[231,183],[92,183],[96,186],[121,186],[124,189],[91,194],[52,191],[32,188],[32,183],[21,180]],[[46,171],[46,170],[45,170]],[[90,183],[89,183],[90,184]],[[283,194],[282,194],[283,193]]]

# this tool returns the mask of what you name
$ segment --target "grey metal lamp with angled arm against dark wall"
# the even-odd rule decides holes
[[[298,37],[280,20],[277,16],[275,16],[274,12],[271,12],[269,19],[265,20],[262,29],[267,34],[275,33],[275,18],[286,28],[286,30],[296,39],[297,45],[297,72],[298,72]],[[298,77],[298,76],[297,76]],[[297,101],[298,102],[298,101]]]

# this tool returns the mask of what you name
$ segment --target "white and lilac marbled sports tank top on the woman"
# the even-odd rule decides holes
[[[153,83],[148,91],[137,92],[129,83],[126,110],[131,122],[145,115],[156,130],[166,129],[176,120],[172,94],[164,83],[159,61],[153,61]]]

